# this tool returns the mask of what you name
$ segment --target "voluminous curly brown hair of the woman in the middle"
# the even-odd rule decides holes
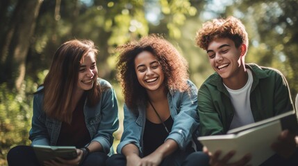
[[[161,35],[151,34],[138,41],[117,47],[117,78],[122,85],[124,102],[134,113],[141,104],[147,105],[147,92],[138,82],[135,73],[135,57],[142,51],[152,53],[165,74],[167,90],[187,91],[188,62],[176,48]]]

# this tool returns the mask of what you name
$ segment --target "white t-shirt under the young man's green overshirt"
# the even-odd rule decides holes
[[[254,122],[254,116],[251,113],[250,107],[250,91],[253,82],[253,77],[251,71],[247,68],[248,80],[245,86],[241,89],[233,90],[229,89],[225,84],[224,86],[230,93],[231,102],[235,109],[233,120],[229,129],[234,129],[236,127],[241,127],[245,124],[250,124]]]

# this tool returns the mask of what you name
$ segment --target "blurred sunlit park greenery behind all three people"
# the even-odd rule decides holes
[[[213,73],[194,44],[202,22],[233,15],[249,33],[246,62],[279,69],[292,98],[298,91],[298,0],[5,0],[0,1],[0,165],[8,150],[30,145],[32,93],[47,74],[54,51],[69,39],[92,39],[99,48],[99,77],[113,84],[116,46],[150,34],[164,35],[188,59],[190,79],[201,86]]]

